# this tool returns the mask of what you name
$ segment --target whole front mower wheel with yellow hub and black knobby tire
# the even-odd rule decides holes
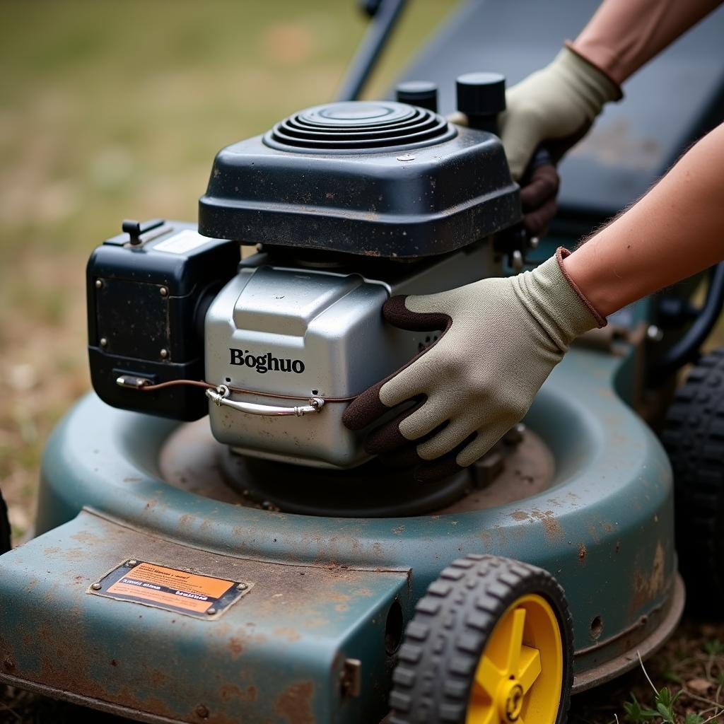
[[[416,606],[392,673],[390,724],[563,724],[572,663],[571,614],[555,578],[468,555]]]

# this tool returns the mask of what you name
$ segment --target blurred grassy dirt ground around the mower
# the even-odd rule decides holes
[[[371,95],[455,2],[413,5]],[[48,434],[89,388],[88,254],[124,218],[194,219],[214,153],[331,98],[364,20],[352,0],[35,0],[1,12],[0,487],[17,544]],[[707,720],[724,700],[723,641],[724,626],[689,620],[647,665],[657,687],[686,691],[679,721]],[[638,672],[581,696],[573,719],[623,720],[631,692],[652,706]],[[0,692],[0,723],[86,719],[101,721]]]

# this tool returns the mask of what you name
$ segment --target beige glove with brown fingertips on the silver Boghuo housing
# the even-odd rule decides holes
[[[442,479],[474,463],[523,418],[571,341],[605,325],[566,277],[564,254],[559,249],[515,277],[387,301],[384,319],[395,327],[444,332],[345,411],[345,426],[359,430],[416,401],[369,434],[367,452],[413,467],[418,481]]]

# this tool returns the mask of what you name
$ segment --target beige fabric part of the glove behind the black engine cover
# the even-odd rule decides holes
[[[498,124],[513,179],[521,179],[542,143],[559,160],[586,135],[604,104],[621,97],[617,83],[564,47],[547,67],[505,94],[507,108]]]

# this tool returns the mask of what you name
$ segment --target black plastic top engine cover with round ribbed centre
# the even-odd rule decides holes
[[[366,256],[462,248],[521,219],[494,135],[392,101],[300,111],[219,151],[201,234]]]

